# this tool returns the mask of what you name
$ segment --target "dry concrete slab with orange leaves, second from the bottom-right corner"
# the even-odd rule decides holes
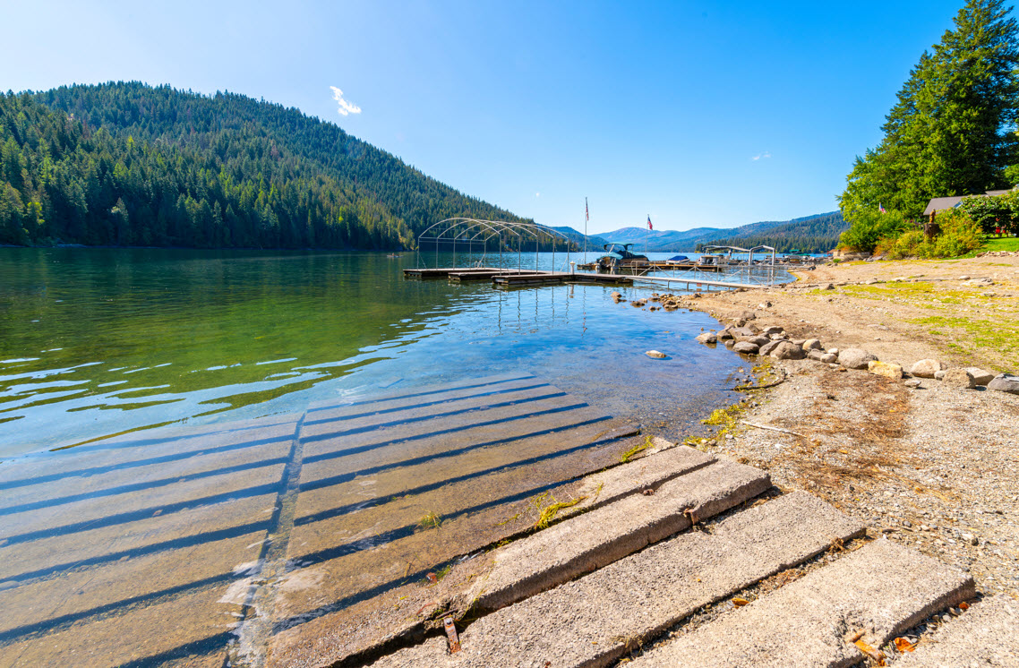
[[[973,579],[880,540],[636,659],[645,666],[821,668],[865,660],[872,648],[974,595]],[[953,664],[958,665],[958,664]]]

